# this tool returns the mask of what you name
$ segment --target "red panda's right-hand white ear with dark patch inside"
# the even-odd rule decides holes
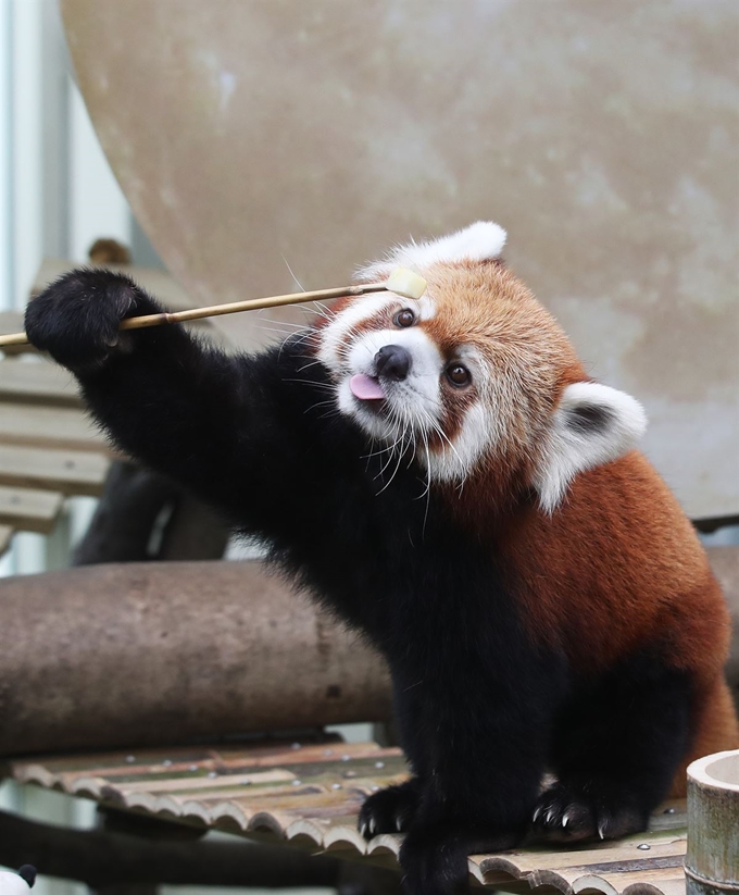
[[[568,385],[534,481],[542,509],[551,513],[578,472],[623,457],[646,428],[644,409],[625,391],[590,382]]]

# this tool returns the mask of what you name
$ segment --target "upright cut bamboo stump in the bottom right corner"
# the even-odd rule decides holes
[[[688,768],[687,895],[739,893],[739,749]]]

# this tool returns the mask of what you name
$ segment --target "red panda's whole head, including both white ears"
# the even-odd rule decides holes
[[[339,410],[412,450],[429,482],[489,471],[535,488],[551,511],[580,470],[630,450],[646,419],[634,398],[587,381],[556,321],[499,260],[504,241],[479,222],[394,249],[358,279],[402,265],[424,276],[425,295],[340,300],[317,353]]]

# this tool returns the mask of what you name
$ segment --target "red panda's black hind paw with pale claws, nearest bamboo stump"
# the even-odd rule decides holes
[[[613,840],[646,826],[647,817],[623,796],[605,796],[594,786],[586,794],[562,783],[541,794],[531,817],[533,837],[547,842]]]

